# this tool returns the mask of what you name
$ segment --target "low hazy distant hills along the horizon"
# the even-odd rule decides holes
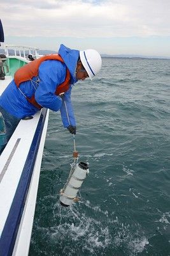
[[[13,54],[13,50],[8,50],[9,54]],[[38,50],[39,55],[46,55],[46,54],[52,54],[57,53],[56,51],[50,51],[50,50]],[[0,54],[4,54],[4,49],[0,49]],[[28,51],[25,51],[25,54],[29,54]],[[170,60],[170,57],[164,57],[164,56],[144,56],[144,55],[138,55],[138,54],[101,54],[103,58],[142,58],[142,59],[164,59],[164,60]]]

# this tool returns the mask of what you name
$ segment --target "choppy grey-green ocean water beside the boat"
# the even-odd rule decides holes
[[[72,102],[90,173],[60,206],[73,136],[51,111],[29,256],[170,256],[170,60],[103,58]]]

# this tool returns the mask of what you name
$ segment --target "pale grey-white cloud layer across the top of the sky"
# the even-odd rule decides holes
[[[169,0],[16,0],[1,3],[6,36],[170,35]]]

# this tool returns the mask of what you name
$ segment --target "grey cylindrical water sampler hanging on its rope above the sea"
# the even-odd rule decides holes
[[[71,170],[69,173],[69,177],[67,179],[64,188],[60,189],[60,204],[62,206],[69,206],[73,204],[73,202],[77,202],[79,198],[76,196],[78,193],[78,189],[81,188],[81,184],[83,180],[86,178],[89,173],[89,164],[80,162],[78,163],[78,152],[76,151],[76,143],[75,136],[74,139],[74,152],[73,157],[74,161],[71,164]]]

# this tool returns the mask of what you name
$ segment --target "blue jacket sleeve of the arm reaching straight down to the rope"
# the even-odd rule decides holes
[[[64,96],[62,97],[62,106],[60,108],[60,114],[62,118],[62,123],[65,128],[69,125],[76,126],[73,106],[71,104],[71,87],[66,93],[64,93]]]

